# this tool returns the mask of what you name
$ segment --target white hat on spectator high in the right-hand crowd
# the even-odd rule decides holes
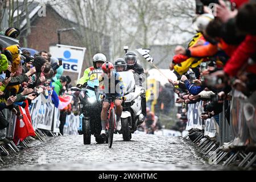
[[[214,20],[214,16],[212,14],[199,15],[193,20],[193,28],[197,32],[203,32],[212,20]]]

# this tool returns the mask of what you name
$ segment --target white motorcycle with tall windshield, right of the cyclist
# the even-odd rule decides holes
[[[133,72],[118,72],[125,85],[125,100],[123,100],[123,111],[121,115],[121,131],[119,134],[123,135],[123,140],[129,141],[131,134],[133,134],[138,126],[140,126],[145,115],[142,114],[142,94],[145,93],[142,86],[135,85]]]

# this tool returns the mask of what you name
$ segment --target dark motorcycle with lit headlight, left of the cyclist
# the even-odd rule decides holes
[[[104,143],[105,138],[100,136],[101,133],[101,110],[102,110],[102,92],[100,82],[97,79],[102,74],[101,69],[92,71],[89,81],[82,88],[72,87],[71,90],[80,92],[79,110],[80,125],[79,135],[84,135],[84,144],[91,143],[91,135],[94,135],[97,143]]]

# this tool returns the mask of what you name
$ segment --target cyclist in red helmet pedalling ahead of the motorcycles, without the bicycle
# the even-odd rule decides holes
[[[102,103],[101,111],[101,136],[106,136],[106,121],[108,119],[108,109],[110,106],[110,98],[114,97],[116,107],[115,114],[117,115],[117,130],[121,130],[121,115],[122,115],[122,96],[123,96],[123,81],[118,72],[114,72],[114,65],[106,62],[102,65],[103,74],[100,77],[100,82],[104,85],[105,98]]]

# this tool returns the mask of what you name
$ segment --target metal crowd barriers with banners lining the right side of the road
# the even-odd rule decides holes
[[[219,125],[214,117],[200,121],[203,111],[203,102],[200,101],[188,105],[187,130],[204,129],[204,134],[193,143],[198,144],[203,154],[209,154],[210,164],[223,162],[222,166],[227,166],[238,160],[238,167],[249,168],[256,161],[256,92],[247,98],[241,92],[233,90],[232,96],[232,101],[228,103],[230,122],[225,105],[219,115]]]

